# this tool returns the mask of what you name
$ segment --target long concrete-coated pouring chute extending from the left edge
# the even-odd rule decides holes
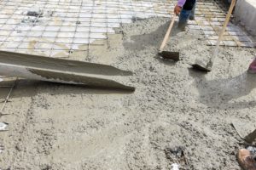
[[[112,80],[113,77],[131,76],[131,71],[119,70],[110,65],[5,51],[0,51],[0,75],[89,87],[135,90]]]

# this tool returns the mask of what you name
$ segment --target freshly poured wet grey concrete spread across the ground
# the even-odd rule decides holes
[[[256,120],[256,77],[247,74],[255,48],[220,48],[208,74],[190,69],[212,47],[200,31],[174,31],[160,59],[169,22],[154,18],[121,26],[109,47],[92,47],[90,62],[133,71],[119,82],[134,93],[19,80],[2,116],[2,169],[240,169],[243,140],[232,121]],[[71,59],[84,59],[74,53]],[[1,98],[6,96],[1,89]],[[249,127],[248,127],[249,128]]]

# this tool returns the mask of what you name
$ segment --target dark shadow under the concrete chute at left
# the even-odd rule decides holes
[[[0,82],[0,99],[3,100],[9,94],[10,87],[14,81]],[[36,94],[133,94],[125,90],[116,90],[111,88],[91,88],[82,85],[70,85],[58,82],[42,82],[21,79],[16,82],[15,88],[10,96],[12,98],[32,97]]]

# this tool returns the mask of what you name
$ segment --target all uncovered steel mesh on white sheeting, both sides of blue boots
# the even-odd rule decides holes
[[[78,51],[84,52],[85,58],[90,54],[90,46],[108,43],[114,28],[137,19],[170,17],[175,3],[171,0],[2,0],[0,50],[61,58]],[[217,0],[198,0],[196,18],[189,20],[189,29],[202,30],[208,45],[215,45],[226,11]],[[229,23],[221,44],[255,47],[253,40],[255,37],[250,37],[240,26]],[[0,116],[4,115],[15,82],[0,86],[9,88],[7,97],[0,101]]]

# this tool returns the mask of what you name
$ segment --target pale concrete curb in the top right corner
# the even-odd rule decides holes
[[[239,0],[236,3],[236,20],[240,21],[251,34],[256,36],[256,1]]]

